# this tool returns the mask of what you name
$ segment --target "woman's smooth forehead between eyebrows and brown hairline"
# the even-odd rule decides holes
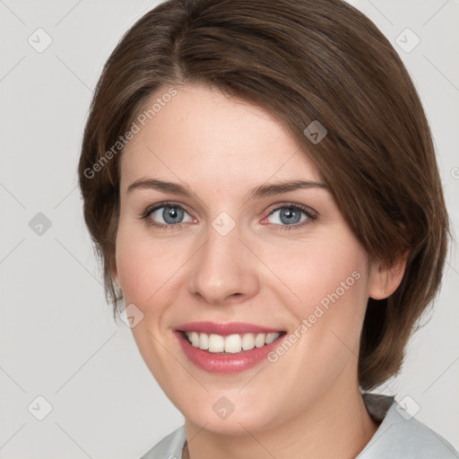
[[[135,121],[138,133],[121,156],[123,189],[149,174],[220,187],[321,179],[304,149],[262,108],[204,86],[162,99],[166,93],[157,91],[145,104],[146,119]]]

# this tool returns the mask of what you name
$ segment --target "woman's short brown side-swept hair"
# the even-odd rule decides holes
[[[410,249],[399,288],[387,299],[368,299],[360,340],[361,387],[394,376],[437,295],[448,216],[410,76],[373,22],[341,0],[169,0],[120,40],[94,92],[79,163],[84,219],[114,316],[122,299],[112,280],[119,139],[156,91],[185,83],[219,88],[277,117],[304,146],[372,259]],[[327,130],[320,143],[304,134],[313,120]]]

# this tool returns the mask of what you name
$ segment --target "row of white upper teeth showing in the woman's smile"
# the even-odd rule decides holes
[[[197,332],[186,332],[188,341],[195,348],[209,352],[228,352],[235,354],[241,351],[250,351],[255,347],[261,348],[264,344],[270,344],[277,340],[281,333],[244,333],[229,334],[207,334]]]

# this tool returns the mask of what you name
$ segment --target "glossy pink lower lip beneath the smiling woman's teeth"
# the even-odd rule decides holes
[[[210,373],[229,374],[253,368],[264,359],[267,360],[268,354],[279,346],[287,333],[281,334],[277,340],[264,344],[261,348],[255,347],[250,351],[241,351],[235,354],[203,351],[188,342],[184,333],[176,331],[174,334],[178,338],[182,351],[196,367]]]

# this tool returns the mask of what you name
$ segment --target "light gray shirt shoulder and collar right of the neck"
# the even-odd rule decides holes
[[[369,398],[368,398],[369,396]],[[416,420],[394,397],[368,394],[371,414],[386,407],[376,434],[356,459],[457,459],[459,454],[444,437]]]

